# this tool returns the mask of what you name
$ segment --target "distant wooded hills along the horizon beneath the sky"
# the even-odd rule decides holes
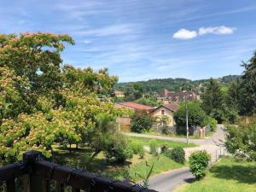
[[[227,87],[230,82],[241,79],[241,75],[228,75],[222,78],[216,79],[223,88]],[[167,90],[179,91],[179,90],[193,90],[196,93],[204,91],[206,84],[210,79],[190,80],[190,79],[149,79],[147,81],[127,82],[115,84],[115,90],[125,91],[125,88],[131,84],[142,84],[143,89],[148,93],[160,93],[166,88]]]

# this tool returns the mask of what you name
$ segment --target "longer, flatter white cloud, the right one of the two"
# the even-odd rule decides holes
[[[227,26],[215,26],[215,27],[201,27],[198,31],[199,35],[217,34],[217,35],[230,35],[234,33],[236,28]]]

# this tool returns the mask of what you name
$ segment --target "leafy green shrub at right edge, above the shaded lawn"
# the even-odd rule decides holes
[[[230,154],[245,156],[249,160],[256,160],[256,118],[241,122],[239,125],[227,126],[226,148]]]

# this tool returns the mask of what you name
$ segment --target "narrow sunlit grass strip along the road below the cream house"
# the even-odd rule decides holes
[[[144,137],[129,137],[129,138],[131,139],[131,141],[141,142],[143,143],[143,145],[146,145],[146,146],[149,146],[149,143],[152,140],[156,141],[158,147],[161,147],[164,144],[166,144],[169,148],[176,148],[176,147],[193,148],[197,146],[195,143],[189,143],[189,146],[188,146],[187,143],[172,142],[169,140],[162,140],[162,139],[153,139],[153,138],[144,138]]]

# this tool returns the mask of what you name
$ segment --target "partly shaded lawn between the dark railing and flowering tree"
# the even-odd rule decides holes
[[[128,160],[124,165],[118,165],[113,160],[107,160],[103,153],[98,154],[94,160],[90,160],[90,155],[93,153],[90,148],[73,149],[73,151],[69,153],[65,148],[55,145],[54,151],[53,160],[58,164],[82,169],[84,171],[96,172],[100,175],[112,177],[117,180],[122,180],[124,177],[127,177],[129,172],[132,181],[139,181],[141,178],[138,174],[144,177],[148,172],[149,166],[147,166],[147,164],[154,164],[152,175],[183,166],[161,154],[155,157],[152,154],[145,153],[143,159],[140,159],[138,155],[133,155],[133,158]]]

